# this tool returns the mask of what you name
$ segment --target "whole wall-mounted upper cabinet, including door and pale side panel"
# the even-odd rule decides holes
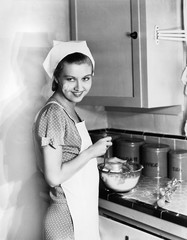
[[[71,39],[96,60],[87,105],[157,108],[183,103],[183,44],[155,41],[181,29],[182,0],[71,0]]]

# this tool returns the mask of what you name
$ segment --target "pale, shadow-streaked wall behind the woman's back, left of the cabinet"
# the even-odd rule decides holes
[[[42,62],[69,39],[68,0],[1,0],[0,239],[40,240],[47,203],[36,174],[32,123],[50,94]]]

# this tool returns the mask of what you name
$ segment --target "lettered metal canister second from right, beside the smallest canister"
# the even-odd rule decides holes
[[[146,143],[142,146],[143,175],[147,177],[168,176],[168,151],[167,144]]]

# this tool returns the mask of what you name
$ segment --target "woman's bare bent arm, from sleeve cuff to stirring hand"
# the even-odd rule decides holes
[[[62,146],[58,146],[56,149],[49,145],[43,147],[44,175],[47,183],[52,187],[60,185],[79,171],[89,160],[103,155],[111,145],[111,137],[102,138],[73,160],[63,164]]]

